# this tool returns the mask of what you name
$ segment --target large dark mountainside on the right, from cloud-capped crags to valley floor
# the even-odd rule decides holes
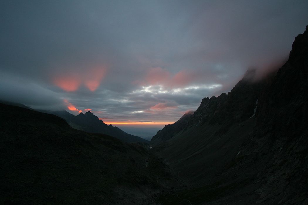
[[[159,203],[308,204],[308,26],[277,73],[259,81],[254,73],[204,98],[151,150],[188,186]]]

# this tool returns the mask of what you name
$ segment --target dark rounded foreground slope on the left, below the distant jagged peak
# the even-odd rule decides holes
[[[171,182],[142,146],[55,115],[0,104],[0,130],[1,204],[146,204]]]

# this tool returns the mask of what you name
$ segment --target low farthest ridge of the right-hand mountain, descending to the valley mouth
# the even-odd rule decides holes
[[[186,127],[188,125],[189,118],[193,115],[193,111],[186,112],[180,120],[177,120],[173,124],[165,125],[165,127],[162,130],[159,130],[155,136],[151,139],[151,145],[156,146],[157,144],[160,144],[161,142],[169,140],[171,137],[176,135],[178,132],[180,132],[183,127]]]

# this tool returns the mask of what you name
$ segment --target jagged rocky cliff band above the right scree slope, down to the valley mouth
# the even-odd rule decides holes
[[[243,79],[227,94],[218,97],[205,97],[195,112],[184,114],[174,124],[165,126],[151,140],[156,146],[171,139],[178,133],[195,126],[224,125],[219,132],[225,133],[228,127],[243,122],[254,114],[256,102],[261,92],[263,81],[254,81],[255,70],[248,70]]]

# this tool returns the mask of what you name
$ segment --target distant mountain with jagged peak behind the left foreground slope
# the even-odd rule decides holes
[[[81,112],[77,116],[72,115],[67,111],[41,111],[41,112],[47,112],[62,117],[67,121],[69,125],[71,125],[72,128],[83,130],[85,132],[103,133],[128,143],[130,142],[149,143],[148,140],[128,134],[123,130],[121,130],[120,128],[113,127],[112,125],[105,124],[103,120],[99,120],[99,118],[90,111],[86,112],[85,114]]]

